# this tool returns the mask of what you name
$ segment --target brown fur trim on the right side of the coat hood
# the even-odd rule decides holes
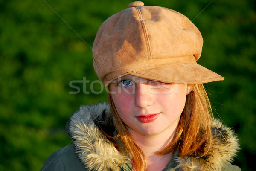
[[[239,142],[233,130],[215,119],[212,122],[212,136],[212,145],[205,156],[177,157],[177,167],[183,171],[221,171],[229,165],[239,150]]]

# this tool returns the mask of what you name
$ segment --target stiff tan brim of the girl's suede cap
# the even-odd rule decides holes
[[[195,63],[157,67],[129,74],[148,80],[173,84],[202,84],[224,80],[221,75]]]

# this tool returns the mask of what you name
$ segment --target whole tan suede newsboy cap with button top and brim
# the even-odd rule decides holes
[[[93,43],[93,66],[107,87],[123,75],[178,84],[223,80],[197,64],[203,38],[183,14],[136,1],[112,15]]]

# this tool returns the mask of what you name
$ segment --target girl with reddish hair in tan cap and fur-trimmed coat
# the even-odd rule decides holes
[[[239,171],[238,140],[212,117],[203,83],[223,80],[196,61],[203,39],[171,9],[129,4],[93,43],[109,104],[82,106],[67,123],[73,140],[41,171]]]

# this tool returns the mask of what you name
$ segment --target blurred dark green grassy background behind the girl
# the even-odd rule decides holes
[[[37,171],[68,145],[65,124],[82,104],[106,101],[92,44],[101,23],[128,0],[0,0],[0,171]],[[234,164],[256,170],[256,5],[254,0],[144,0],[193,20],[204,38],[199,64],[225,77],[206,84],[216,117],[236,131]],[[206,7],[206,8],[205,8]],[[80,93],[70,87],[70,81]],[[99,92],[99,84],[93,84]],[[90,92],[83,93],[82,90]]]

